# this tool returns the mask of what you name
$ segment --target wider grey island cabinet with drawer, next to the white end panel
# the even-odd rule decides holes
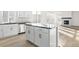
[[[49,46],[48,29],[35,28],[35,44],[41,47]]]

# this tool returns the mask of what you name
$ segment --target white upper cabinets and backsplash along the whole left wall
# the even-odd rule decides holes
[[[32,22],[32,11],[3,11],[0,12],[3,22]],[[0,17],[1,18],[1,17]]]

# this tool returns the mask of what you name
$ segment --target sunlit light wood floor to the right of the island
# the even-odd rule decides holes
[[[58,44],[61,47],[79,47],[79,30],[60,27]]]

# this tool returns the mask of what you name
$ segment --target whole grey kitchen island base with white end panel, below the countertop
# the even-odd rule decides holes
[[[46,29],[26,25],[26,38],[39,47],[55,47],[57,40],[56,28]]]

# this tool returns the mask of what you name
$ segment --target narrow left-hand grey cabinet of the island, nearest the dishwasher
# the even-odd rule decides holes
[[[26,38],[34,43],[34,29],[31,26],[26,26]]]

